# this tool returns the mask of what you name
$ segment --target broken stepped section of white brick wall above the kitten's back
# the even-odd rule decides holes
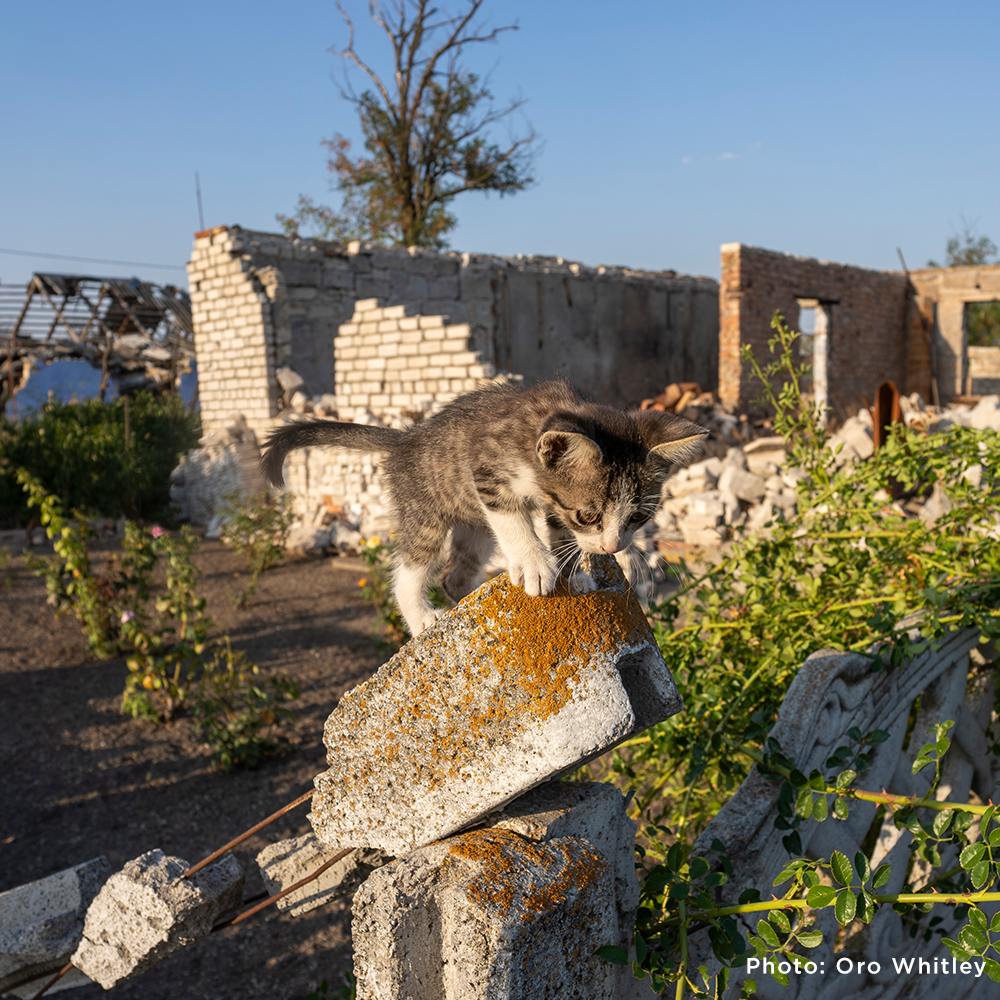
[[[377,299],[354,305],[334,347],[337,410],[354,420],[418,414],[469,392],[496,374],[472,349],[468,324],[445,316],[420,316],[407,306],[380,307]]]

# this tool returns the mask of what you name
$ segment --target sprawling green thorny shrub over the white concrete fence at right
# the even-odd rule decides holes
[[[768,738],[790,683],[819,649],[858,653],[876,671],[904,667],[953,630],[977,628],[984,643],[1000,637],[1000,435],[954,427],[928,437],[897,426],[869,461],[838,468],[820,415],[800,392],[806,369],[795,362],[795,334],[777,315],[772,325],[776,360],[761,367],[746,350],[743,360],[765,386],[775,429],[806,473],[798,511],[790,517],[776,512],[765,534],[738,538],[718,565],[689,576],[678,594],[653,609],[685,711],[614,752],[618,780],[636,790],[645,820],[635,972],[651,976],[656,990],[671,985],[677,1000],[718,996],[748,958],[777,963],[817,947],[823,933],[813,928],[810,911],[832,907],[843,927],[855,916],[870,922],[882,905],[916,919],[935,904],[958,903],[955,915],[967,915],[970,924],[958,942],[944,943],[960,961],[982,955],[1000,980],[1000,963],[986,958],[991,949],[1000,957],[1000,941],[980,941],[987,917],[974,905],[1000,899],[987,893],[1000,878],[1000,851],[995,858],[990,853],[1000,844],[1000,830],[991,830],[995,811],[941,803],[934,795],[953,723],[937,726],[933,742],[920,751],[913,770],[933,763],[935,781],[924,797],[911,799],[855,785],[871,766],[873,747],[888,736],[884,730],[844,733],[826,763],[832,770],[808,776]],[[776,392],[771,386],[779,381]],[[973,467],[977,476],[967,476]],[[901,506],[935,484],[952,504],[936,523]],[[691,847],[755,763],[781,784],[773,819],[790,860],[774,873],[773,886],[747,889],[738,903],[721,907],[716,889],[733,876],[726,845],[715,840],[704,856],[692,855]],[[946,844],[964,847],[963,871],[938,875],[925,890],[933,895],[908,886],[885,894],[889,866],[872,872],[863,852],[853,862],[839,851],[829,860],[800,857],[799,824],[846,820],[854,799],[893,812],[896,826],[913,836],[917,855],[934,867]],[[965,846],[977,836],[982,840]],[[945,895],[949,880],[966,895]],[[785,888],[776,899],[779,885]],[[766,919],[744,937],[737,919],[751,913]],[[688,933],[706,927],[723,966],[717,978],[687,965]],[[628,960],[611,946],[600,953],[612,962]],[[787,984],[780,973],[774,978]],[[740,995],[754,989],[747,979]]]

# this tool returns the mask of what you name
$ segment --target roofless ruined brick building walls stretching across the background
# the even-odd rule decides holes
[[[619,405],[693,381],[735,408],[757,395],[740,347],[766,352],[776,309],[806,334],[835,418],[886,379],[928,401],[1000,391],[1000,347],[970,346],[965,322],[968,303],[1000,299],[1000,266],[906,274],[739,243],[721,256],[716,282],[219,226],[188,264],[202,419],[268,426],[288,403],[282,369],[307,396],[336,394],[345,416],[419,411],[497,372],[563,375]],[[359,300],[383,310],[364,327]]]

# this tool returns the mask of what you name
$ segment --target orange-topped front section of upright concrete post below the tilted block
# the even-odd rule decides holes
[[[358,1000],[601,1000],[614,872],[579,837],[486,829],[373,872],[354,897]]]

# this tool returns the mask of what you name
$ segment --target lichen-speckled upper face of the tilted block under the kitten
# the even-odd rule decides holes
[[[327,723],[333,766],[314,808],[336,812],[345,787],[479,781],[489,746],[557,714],[595,658],[652,642],[617,567],[594,576],[590,594],[528,597],[503,574],[346,694]]]

